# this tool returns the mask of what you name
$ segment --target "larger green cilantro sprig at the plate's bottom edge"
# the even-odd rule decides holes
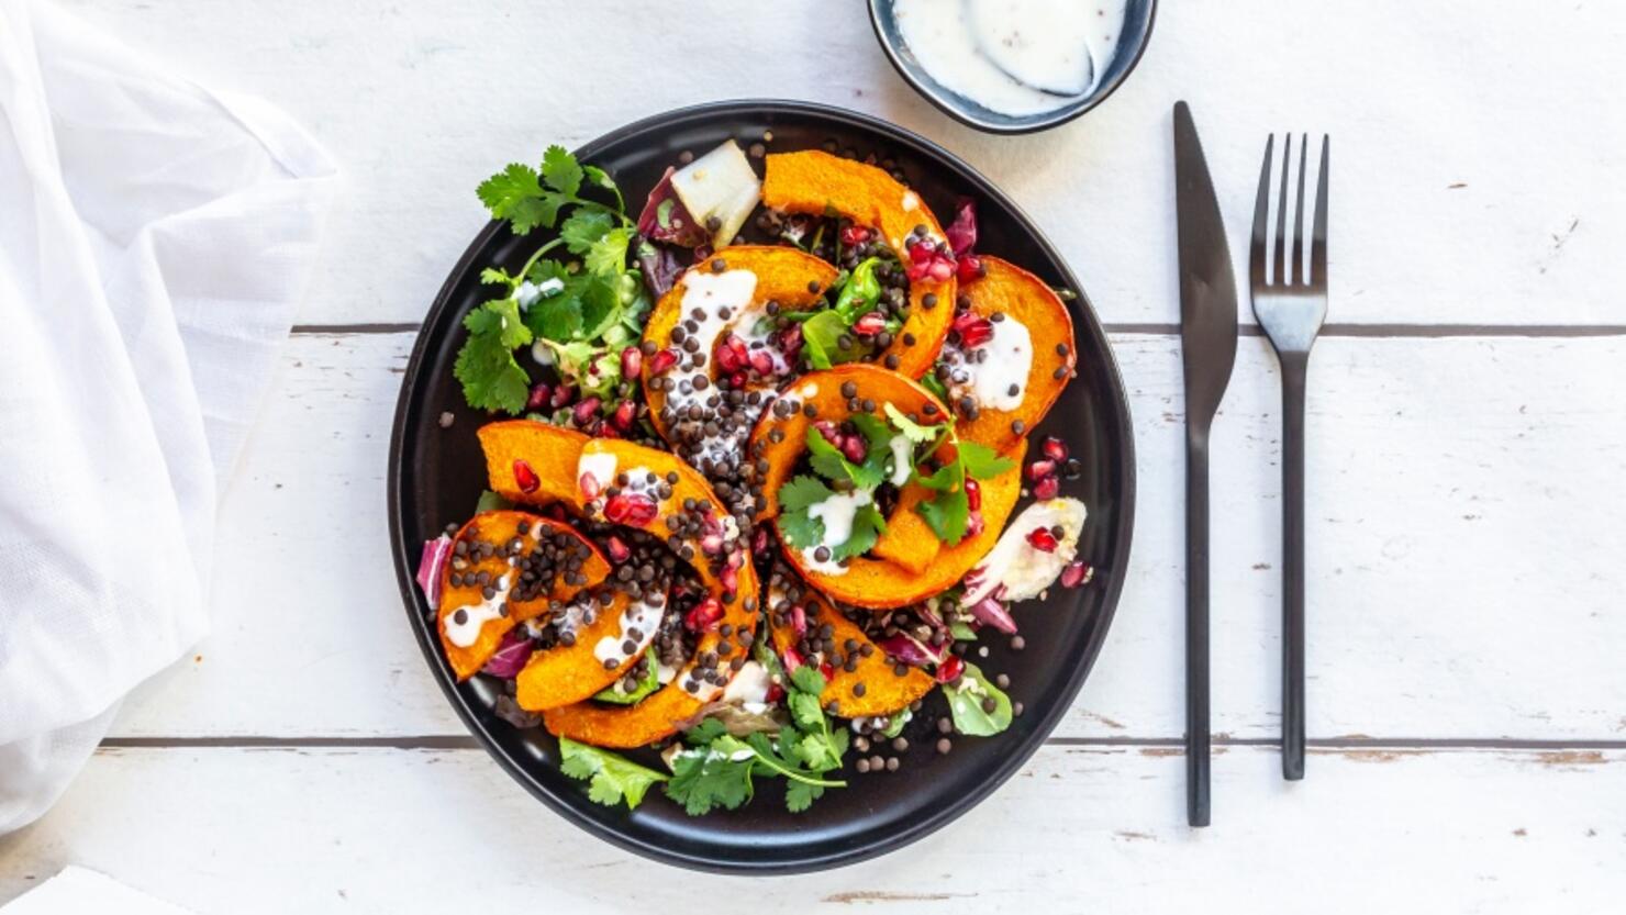
[[[688,749],[672,759],[665,790],[689,816],[715,808],[737,809],[754,796],[758,777],[785,778],[790,813],[808,809],[826,788],[847,787],[844,780],[824,777],[841,769],[847,752],[847,731],[831,728],[820,705],[824,674],[803,665],[784,679],[790,725],[776,738],[761,731],[738,738],[715,718],[685,731]]]

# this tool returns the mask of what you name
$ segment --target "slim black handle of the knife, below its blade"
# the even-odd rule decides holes
[[[1185,819],[1208,826],[1208,436],[1185,440]]]

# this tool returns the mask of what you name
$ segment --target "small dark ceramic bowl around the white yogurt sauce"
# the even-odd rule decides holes
[[[893,62],[898,73],[917,93],[935,104],[943,114],[954,120],[984,130],[987,133],[1034,133],[1067,124],[1086,111],[1101,104],[1111,96],[1146,52],[1151,39],[1151,23],[1156,18],[1158,0],[1128,0],[1124,11],[1124,33],[1119,36],[1117,54],[1107,63],[1106,73],[1096,81],[1096,88],[1063,107],[1039,114],[1002,114],[990,111],[959,93],[943,88],[932,78],[898,31],[898,16],[893,11],[894,0],[870,0],[870,24],[875,26],[875,37],[886,50],[886,59]]]

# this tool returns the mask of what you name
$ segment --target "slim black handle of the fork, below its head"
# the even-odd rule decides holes
[[[1309,353],[1281,356],[1281,777],[1304,778],[1304,380]]]

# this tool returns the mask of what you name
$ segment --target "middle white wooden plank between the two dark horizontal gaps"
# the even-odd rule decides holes
[[[384,473],[408,335],[301,335],[223,507],[215,634],[120,736],[459,735],[406,634]],[[1120,336],[1133,561],[1060,736],[1182,733],[1177,341]],[[1317,738],[1626,738],[1626,338],[1328,340],[1311,384]],[[1215,427],[1215,730],[1276,733],[1275,369]],[[1021,674],[1011,671],[1018,683]]]

